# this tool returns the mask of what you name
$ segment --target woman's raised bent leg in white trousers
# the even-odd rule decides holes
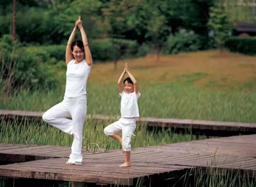
[[[48,109],[43,114],[42,119],[44,122],[71,135],[72,120],[65,117],[68,114],[68,103],[62,101]]]

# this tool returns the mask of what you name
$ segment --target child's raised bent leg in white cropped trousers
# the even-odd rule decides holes
[[[116,134],[121,130],[122,130],[122,123],[120,123],[120,121],[116,121],[104,128],[104,134],[106,136],[112,137],[113,139],[119,141],[122,144],[122,138]]]

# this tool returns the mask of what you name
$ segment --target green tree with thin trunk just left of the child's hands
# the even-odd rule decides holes
[[[138,51],[137,42],[126,40],[123,34],[134,28],[128,22],[128,18],[134,16],[134,11],[142,2],[143,0],[108,0],[102,7],[102,29],[113,46],[110,56],[114,61],[114,70],[117,69],[117,62],[120,59]]]

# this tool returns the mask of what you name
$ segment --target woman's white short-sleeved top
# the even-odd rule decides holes
[[[65,97],[77,97],[86,94],[86,85],[91,68],[92,66],[88,66],[85,60],[75,64],[73,59],[68,63]]]

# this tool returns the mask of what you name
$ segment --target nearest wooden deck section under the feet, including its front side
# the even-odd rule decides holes
[[[150,177],[156,173],[169,173],[189,168],[147,163],[133,163],[129,168],[119,168],[118,165],[122,162],[95,159],[84,159],[82,165],[69,166],[65,163],[66,159],[60,158],[4,165],[0,169],[0,175],[109,184],[119,180],[124,185],[129,183],[131,185],[133,179],[139,177]],[[75,174],[76,177],[71,174]]]

